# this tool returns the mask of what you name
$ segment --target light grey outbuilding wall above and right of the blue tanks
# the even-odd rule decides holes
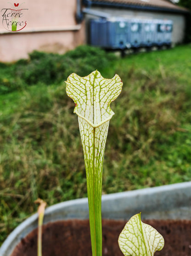
[[[133,11],[117,8],[92,7],[93,10],[110,13],[113,17],[122,18],[147,18],[147,19],[170,19],[173,21],[172,42],[174,44],[182,43],[185,33],[185,16],[183,14],[160,13]],[[86,15],[86,19],[95,18],[95,16]]]

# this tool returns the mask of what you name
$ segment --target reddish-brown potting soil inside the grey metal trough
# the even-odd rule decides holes
[[[191,221],[146,220],[163,235],[165,245],[155,256],[191,256]],[[118,236],[126,221],[103,220],[103,256],[123,256]],[[64,220],[43,226],[43,256],[91,256],[89,220]],[[37,256],[37,229],[17,245],[11,256]]]

